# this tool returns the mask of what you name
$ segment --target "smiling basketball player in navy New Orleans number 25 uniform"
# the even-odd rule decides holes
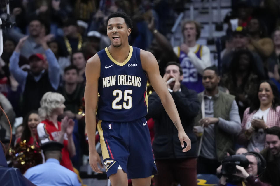
[[[127,179],[132,179],[134,186],[149,186],[150,176],[157,174],[145,119],[148,78],[178,130],[181,146],[185,147],[183,152],[191,148],[174,101],[160,76],[157,60],[150,52],[129,46],[131,31],[132,21],[125,13],[109,15],[107,35],[111,45],[90,58],[85,70],[89,163],[95,172],[102,173],[95,149],[97,118],[104,167],[113,186],[127,185]]]

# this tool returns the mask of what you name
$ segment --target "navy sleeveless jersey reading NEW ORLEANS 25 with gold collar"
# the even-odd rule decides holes
[[[141,65],[140,49],[129,47],[129,55],[123,63],[117,62],[107,47],[97,53],[101,62],[99,120],[128,122],[142,118],[148,112],[148,78]]]

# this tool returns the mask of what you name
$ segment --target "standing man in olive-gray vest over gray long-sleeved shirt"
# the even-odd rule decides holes
[[[205,90],[198,94],[201,111],[195,119],[194,127],[198,137],[200,134],[198,174],[216,174],[216,169],[227,154],[227,149],[234,147],[234,135],[241,131],[234,96],[220,91],[219,82],[220,76],[215,66],[204,69],[202,84]]]

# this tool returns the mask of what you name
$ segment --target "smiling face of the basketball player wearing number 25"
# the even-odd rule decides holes
[[[120,47],[122,43],[128,42],[131,29],[127,27],[125,19],[113,17],[109,19],[107,25],[107,35],[114,47]]]

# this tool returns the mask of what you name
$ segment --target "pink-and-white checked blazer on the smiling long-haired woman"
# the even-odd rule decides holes
[[[246,108],[244,115],[243,115],[243,119],[242,119],[242,123],[241,123],[241,127],[242,129],[246,130],[246,123],[248,121],[251,121],[251,119],[253,118],[253,115],[258,111],[258,110],[254,110],[252,113],[249,114],[249,107]],[[274,109],[270,109],[268,111],[268,115],[267,115],[267,120],[265,123],[269,128],[273,127],[273,126],[279,126],[280,127],[280,106],[277,106]]]

